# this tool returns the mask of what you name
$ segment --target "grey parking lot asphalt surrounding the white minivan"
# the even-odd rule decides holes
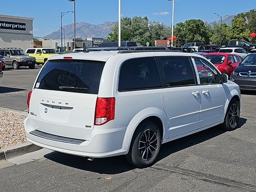
[[[24,109],[27,96],[20,93],[32,88],[38,72],[38,69],[4,71],[0,82],[0,107]],[[6,96],[6,103],[2,103],[2,95],[7,94],[2,92],[3,86],[3,90],[9,87],[24,90]],[[13,104],[8,104],[10,100]],[[84,157],[50,152],[32,162],[1,169],[0,189],[3,192],[256,192],[255,100],[256,92],[242,92],[236,130],[226,132],[213,127],[163,144],[152,167],[135,168],[124,156],[91,162]],[[18,102],[25,102],[25,105],[18,105]]]

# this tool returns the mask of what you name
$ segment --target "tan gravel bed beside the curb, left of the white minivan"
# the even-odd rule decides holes
[[[0,110],[0,149],[27,142],[25,118],[24,115]]]

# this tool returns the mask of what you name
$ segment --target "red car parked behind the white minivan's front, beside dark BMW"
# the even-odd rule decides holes
[[[220,72],[230,76],[238,64],[242,61],[236,54],[230,53],[207,53],[203,56],[212,62]]]

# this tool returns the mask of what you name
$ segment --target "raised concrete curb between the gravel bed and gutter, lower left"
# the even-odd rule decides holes
[[[21,156],[26,153],[37,151],[41,148],[42,147],[36,146],[30,142],[3,148],[3,149],[0,149],[0,160],[8,160],[16,156]]]

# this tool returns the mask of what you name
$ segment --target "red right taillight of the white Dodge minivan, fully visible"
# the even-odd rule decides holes
[[[94,125],[102,125],[115,118],[115,98],[97,98]]]

